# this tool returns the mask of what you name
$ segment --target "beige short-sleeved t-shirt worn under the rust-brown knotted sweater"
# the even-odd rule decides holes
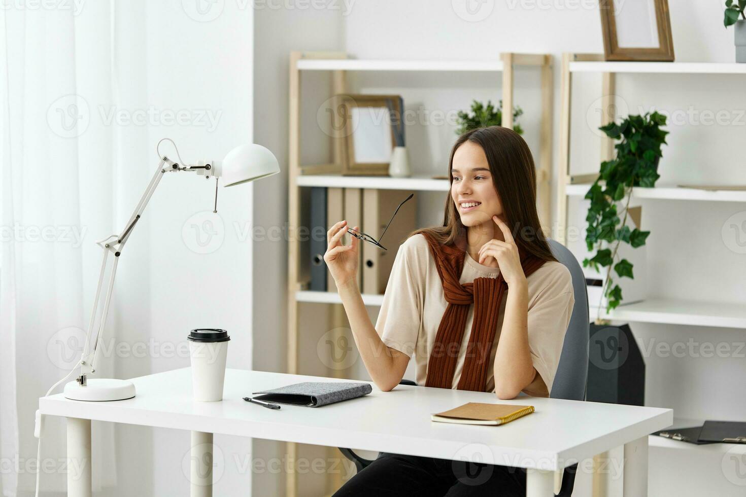
[[[481,265],[466,253],[460,282],[475,278],[495,278],[499,268]],[[570,271],[560,262],[545,262],[527,277],[528,284],[528,344],[533,367],[539,373],[524,392],[533,396],[548,396],[551,392],[557,364],[560,362],[570,315],[575,302]],[[510,291],[510,289],[508,290]],[[505,315],[506,297],[500,306],[495,343],[489,364],[495,364],[495,353]],[[375,329],[386,346],[412,357],[415,353],[416,382],[424,385],[427,361],[435,343],[440,320],[448,305],[430,247],[424,235],[410,236],[401,244],[383,296]],[[466,319],[466,331],[459,350],[452,387],[457,388],[467,353],[474,304]],[[487,391],[495,391],[493,368],[487,373]]]

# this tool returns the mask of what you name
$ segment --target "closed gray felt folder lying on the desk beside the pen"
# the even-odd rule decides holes
[[[256,396],[254,399],[266,402],[318,408],[320,405],[361,397],[372,391],[369,383],[304,382],[263,392],[252,392],[252,395],[263,393],[264,395]]]

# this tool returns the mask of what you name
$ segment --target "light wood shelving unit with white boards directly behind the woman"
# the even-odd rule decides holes
[[[514,68],[516,66],[536,67],[540,70],[542,93],[542,116],[539,129],[539,152],[537,164],[536,196],[542,199],[539,218],[542,226],[550,227],[551,215],[551,171],[552,166],[552,124],[554,69],[550,54],[504,53],[497,60],[485,61],[443,61],[443,60],[356,60],[344,52],[292,51],[289,60],[289,153],[288,153],[288,215],[289,229],[299,227],[301,219],[301,188],[308,186],[348,186],[350,188],[377,189],[417,189],[420,191],[448,191],[448,180],[431,178],[389,178],[389,177],[342,177],[332,174],[339,171],[342,160],[342,143],[333,141],[333,163],[322,165],[301,165],[301,72],[331,72],[331,95],[348,91],[347,73],[354,71],[431,71],[431,72],[496,72],[502,75],[502,101],[504,127],[513,128]],[[414,183],[417,183],[416,185]],[[416,186],[416,188],[414,188]],[[331,320],[342,326],[344,309],[339,300],[329,292],[304,292],[305,282],[301,282],[300,241],[288,242],[288,286],[287,286],[287,372],[298,374],[299,323],[298,304],[300,302],[337,303]],[[381,297],[382,296],[367,296]],[[376,300],[377,301],[377,300]],[[376,305],[376,304],[372,304]],[[380,305],[378,303],[377,305]],[[298,447],[295,443],[286,444],[288,458],[297,460]],[[339,484],[339,480],[332,482]],[[286,496],[298,495],[297,472],[286,475]]]

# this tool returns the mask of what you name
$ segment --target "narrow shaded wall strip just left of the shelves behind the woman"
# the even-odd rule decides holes
[[[278,8],[279,5],[283,7]],[[342,14],[333,8],[332,3],[329,3],[330,8],[319,10],[309,7],[301,9],[302,5],[302,2],[269,1],[266,4],[257,3],[254,10],[254,141],[275,153],[280,161],[280,174],[263,181],[261,188],[254,191],[252,226],[257,227],[257,233],[267,235],[254,238],[253,307],[256,311],[252,323],[253,364],[255,370],[283,373],[287,371],[287,238],[284,235],[286,231],[278,228],[285,227],[288,219],[289,53],[295,50],[338,51],[342,48],[343,39]],[[330,91],[330,81],[323,75],[304,77],[303,85],[306,95],[322,95]],[[315,120],[315,111],[304,115],[310,115]],[[308,124],[304,121],[304,130],[307,130]],[[328,140],[306,140],[303,150],[304,159],[313,160],[314,156],[327,153]],[[273,232],[275,235],[271,236]],[[279,232],[283,235],[278,236]],[[322,308],[310,311],[317,315],[320,313],[322,318],[326,315]],[[303,368],[301,372],[319,374]],[[281,468],[279,471],[255,471],[251,495],[283,495],[287,458],[285,444],[255,438],[251,457],[262,463],[257,467]],[[323,449],[305,446],[300,457],[311,460],[325,458],[325,455]],[[319,496],[325,491],[324,475],[313,475],[304,478],[303,482],[303,496]]]

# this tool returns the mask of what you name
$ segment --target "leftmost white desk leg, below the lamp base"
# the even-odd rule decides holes
[[[92,497],[91,421],[67,419],[67,495]]]

